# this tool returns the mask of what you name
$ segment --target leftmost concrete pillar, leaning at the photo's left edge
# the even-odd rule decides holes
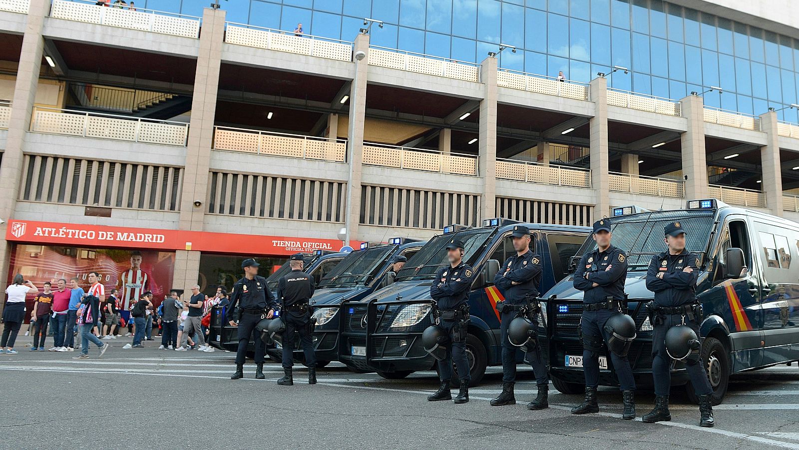
[[[6,227],[9,219],[14,218],[14,209],[19,196],[19,186],[22,181],[22,162],[24,155],[22,149],[25,138],[30,129],[30,117],[34,111],[34,99],[39,82],[39,70],[42,67],[42,54],[44,51],[44,38],[42,28],[45,17],[50,11],[49,0],[30,0],[25,35],[22,37],[22,50],[19,54],[17,66],[17,81],[14,84],[14,97],[11,104],[8,134],[6,134],[6,150],[2,154],[0,165],[0,218],[4,223],[0,225],[0,273],[6,276],[9,270],[9,256],[11,245],[5,240]],[[54,219],[57,220],[57,219]],[[0,293],[5,298],[6,294]],[[0,308],[2,309],[2,308]]]

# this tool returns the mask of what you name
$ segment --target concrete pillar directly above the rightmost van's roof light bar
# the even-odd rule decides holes
[[[705,121],[702,97],[689,95],[680,100],[682,117],[688,119],[688,131],[680,135],[682,175],[686,181],[686,198],[708,197],[707,154],[705,152]]]

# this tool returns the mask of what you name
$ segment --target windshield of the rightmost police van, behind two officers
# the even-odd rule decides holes
[[[652,211],[613,217],[608,219],[613,233],[611,243],[627,253],[627,267],[630,270],[643,270],[649,267],[653,255],[666,251],[663,228],[670,222],[679,222],[682,229],[686,230],[686,250],[698,253],[704,262],[715,217],[716,211],[712,209]],[[590,235],[574,256],[570,272],[574,272],[583,254],[594,249],[596,242]]]

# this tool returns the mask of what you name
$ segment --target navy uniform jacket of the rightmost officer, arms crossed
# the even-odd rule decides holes
[[[693,267],[694,272],[682,269]],[[662,278],[658,278],[662,273]],[[678,255],[668,251],[652,257],[646,271],[646,289],[654,293],[654,302],[667,308],[686,305],[696,301],[696,285],[699,277],[699,256],[682,250]]]

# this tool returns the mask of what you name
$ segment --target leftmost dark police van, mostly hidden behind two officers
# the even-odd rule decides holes
[[[312,253],[304,255],[304,267],[309,275],[314,277],[317,282],[326,274],[330,273],[336,265],[347,256],[348,253],[331,253],[324,250],[314,250]],[[277,281],[286,273],[291,272],[291,267],[286,261],[272,275],[266,278],[266,285],[272,291],[277,292]],[[230,326],[229,320],[225,319],[227,308],[225,306],[215,306],[211,311],[211,325],[209,326],[208,343],[221,350],[237,351],[239,348],[239,337],[237,327]],[[250,343],[252,346],[252,342]]]

